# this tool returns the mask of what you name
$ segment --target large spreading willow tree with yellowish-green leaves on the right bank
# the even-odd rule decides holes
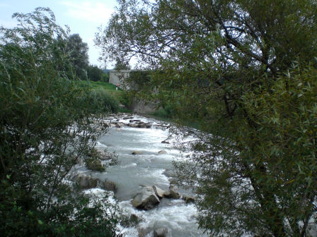
[[[106,60],[137,57],[153,72],[144,91],[205,132],[190,130],[191,162],[176,166],[180,183],[198,183],[200,226],[213,236],[307,235],[316,16],[311,0],[126,0],[96,35]]]

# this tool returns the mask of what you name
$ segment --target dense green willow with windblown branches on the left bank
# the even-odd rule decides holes
[[[69,184],[75,164],[100,159],[108,104],[67,78],[68,33],[50,9],[13,17],[0,29],[0,231],[115,236],[117,207]]]

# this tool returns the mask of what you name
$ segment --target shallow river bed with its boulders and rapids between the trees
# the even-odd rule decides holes
[[[106,122],[109,131],[96,148],[106,149],[109,159],[115,152],[120,164],[105,172],[77,167],[76,182],[86,192],[113,191],[125,214],[144,219],[136,228],[122,229],[126,236],[204,236],[197,230],[195,196],[171,184],[172,161],[180,151],[168,139],[170,125],[131,114]]]

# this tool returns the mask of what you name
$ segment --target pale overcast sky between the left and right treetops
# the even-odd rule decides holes
[[[93,39],[97,28],[108,23],[116,5],[116,0],[0,0],[0,25],[12,28],[16,25],[11,18],[13,13],[30,13],[38,6],[49,7],[59,25],[68,25],[71,34],[79,34],[88,44],[90,63],[103,66],[98,61],[99,52]]]

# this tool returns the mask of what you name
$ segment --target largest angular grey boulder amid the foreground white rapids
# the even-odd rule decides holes
[[[159,205],[159,197],[156,196],[153,188],[144,187],[140,193],[134,196],[132,200],[132,205],[137,209],[149,210]]]

